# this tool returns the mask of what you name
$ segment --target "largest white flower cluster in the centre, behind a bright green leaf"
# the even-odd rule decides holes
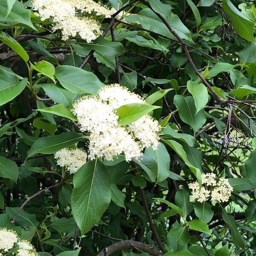
[[[90,159],[98,156],[113,160],[123,153],[130,161],[133,157],[138,159],[145,147],[157,148],[160,127],[151,116],[145,115],[128,127],[118,125],[115,109],[131,103],[145,102],[127,88],[111,84],[101,88],[98,97],[84,96],[73,105],[81,131],[90,132]]]

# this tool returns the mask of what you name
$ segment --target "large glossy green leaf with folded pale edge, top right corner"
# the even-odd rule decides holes
[[[230,0],[223,0],[222,7],[230,15],[231,24],[236,33],[247,41],[253,41],[255,23],[239,12]]]

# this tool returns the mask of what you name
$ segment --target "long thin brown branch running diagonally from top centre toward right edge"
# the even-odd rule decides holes
[[[221,98],[221,96],[219,96],[215,90],[212,89],[212,87],[210,86],[210,84],[207,82],[207,80],[204,78],[204,76],[201,75],[201,73],[199,72],[199,70],[197,69],[197,67],[195,67],[195,64],[189,54],[189,50],[186,46],[186,44],[184,43],[184,41],[182,40],[182,38],[180,38],[180,36],[172,29],[172,27],[169,25],[169,23],[165,20],[165,18],[160,15],[158,12],[155,12],[154,9],[150,6],[150,4],[148,4],[147,2],[143,1],[143,3],[148,6],[149,9],[151,9],[151,11],[154,12],[154,14],[157,15],[157,17],[160,18],[160,20],[163,21],[163,23],[166,25],[166,27],[169,29],[169,31],[172,33],[172,35],[175,36],[175,38],[177,38],[177,40],[180,42],[180,44],[182,45],[184,52],[188,58],[189,63],[191,64],[194,72],[200,77],[201,81],[207,86],[207,88],[211,91],[211,93],[218,99],[219,102],[221,102],[222,104],[226,103],[226,100],[224,100],[223,98]]]

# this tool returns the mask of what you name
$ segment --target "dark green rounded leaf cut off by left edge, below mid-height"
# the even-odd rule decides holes
[[[9,178],[16,182],[19,177],[17,164],[6,157],[0,156],[0,177]]]

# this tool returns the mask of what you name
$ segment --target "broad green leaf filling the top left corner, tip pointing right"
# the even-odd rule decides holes
[[[22,3],[20,3],[19,1],[15,1],[11,11],[9,12],[12,2],[13,0],[0,0],[0,20],[10,23],[22,23],[37,31],[37,29],[33,26],[30,20],[30,11],[25,9]]]

